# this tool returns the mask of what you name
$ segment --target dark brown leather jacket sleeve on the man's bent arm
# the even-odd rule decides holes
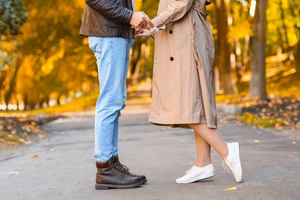
[[[85,0],[85,3],[92,9],[115,21],[129,23],[133,11],[121,5],[115,0]]]

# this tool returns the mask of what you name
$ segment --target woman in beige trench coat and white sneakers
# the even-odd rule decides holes
[[[155,39],[149,121],[194,130],[197,157],[177,183],[214,176],[210,146],[236,182],[242,177],[238,143],[226,143],[216,130],[214,42],[206,18],[208,4],[209,0],[160,0],[158,15],[152,19],[154,28],[136,34]]]

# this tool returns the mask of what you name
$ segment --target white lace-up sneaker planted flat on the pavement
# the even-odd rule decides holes
[[[198,167],[193,163],[193,161],[190,162],[191,162],[190,165],[192,166],[190,167],[190,169],[185,171],[186,174],[184,176],[176,179],[177,183],[190,183],[197,180],[209,178],[215,175],[212,164],[208,164],[207,166],[204,167]]]

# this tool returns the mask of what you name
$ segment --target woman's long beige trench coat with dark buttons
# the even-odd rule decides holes
[[[149,121],[216,128],[212,65],[214,42],[206,18],[209,0],[160,0],[155,35]]]

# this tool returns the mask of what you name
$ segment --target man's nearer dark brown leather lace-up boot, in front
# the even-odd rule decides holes
[[[113,158],[104,162],[96,162],[97,174],[95,189],[108,188],[133,188],[142,184],[139,177],[130,177],[118,170],[113,163]]]

